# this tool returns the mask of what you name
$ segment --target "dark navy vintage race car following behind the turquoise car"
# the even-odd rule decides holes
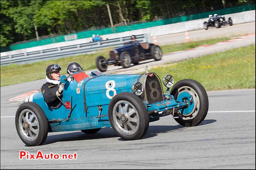
[[[156,61],[162,58],[162,49],[153,43],[139,43],[139,41],[129,41],[124,46],[110,50],[109,59],[103,56],[96,58],[96,66],[101,72],[107,70],[108,65],[123,66],[128,68],[130,65],[138,64],[140,61],[154,58]]]

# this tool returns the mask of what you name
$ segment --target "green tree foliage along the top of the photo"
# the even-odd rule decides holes
[[[224,2],[226,8],[255,4],[255,1],[241,0]],[[39,37],[108,27],[110,21],[106,4],[109,4],[114,26],[223,8],[222,1],[217,0],[1,0],[1,47],[36,38],[35,25]]]

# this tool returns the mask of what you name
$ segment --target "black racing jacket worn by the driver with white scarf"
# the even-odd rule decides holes
[[[42,94],[44,96],[44,101],[45,103],[51,107],[51,106],[56,106],[57,104],[60,103],[60,100],[56,96],[57,90],[59,90],[59,85],[55,85],[49,82],[46,82],[42,86]],[[60,99],[62,99],[63,95],[61,94],[59,96]]]

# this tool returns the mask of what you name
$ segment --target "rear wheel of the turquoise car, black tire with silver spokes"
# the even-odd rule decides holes
[[[20,139],[28,146],[41,145],[47,138],[47,118],[42,108],[34,102],[25,102],[18,107],[15,125]]]

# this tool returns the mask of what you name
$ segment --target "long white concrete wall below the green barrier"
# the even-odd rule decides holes
[[[233,24],[253,22],[255,21],[255,10],[227,14],[223,16],[225,16],[225,18],[231,17],[233,20]],[[118,37],[131,36],[132,34],[138,35],[138,34],[149,33],[150,36],[158,36],[158,35],[165,35],[165,34],[172,34],[172,33],[180,33],[180,32],[185,32],[190,30],[203,29],[203,23],[204,21],[207,21],[207,20],[208,20],[208,17],[203,19],[196,19],[196,20],[191,20],[186,22],[175,23],[175,24],[154,26],[154,27],[149,27],[149,28],[144,28],[139,30],[126,31],[122,33],[107,34],[107,35],[102,35],[101,37],[103,38],[103,40],[106,40],[107,38],[114,39]],[[26,53],[26,52],[28,53],[28,52],[40,51],[40,50],[45,50],[50,48],[58,48],[58,47],[82,44],[90,41],[92,41],[92,38],[84,38],[84,39],[78,39],[73,41],[59,42],[59,43],[37,46],[32,48],[25,48],[25,49],[19,49],[14,51],[3,52],[1,53],[1,56],[15,55],[20,53]]]

